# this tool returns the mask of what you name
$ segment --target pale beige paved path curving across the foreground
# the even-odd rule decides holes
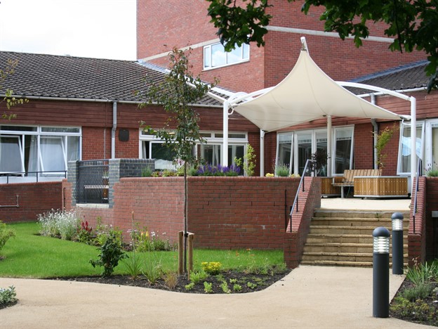
[[[404,276],[389,275],[392,299]],[[0,310],[0,328],[427,328],[374,318],[372,276],[371,268],[299,266],[241,295],[0,278],[20,299]]]

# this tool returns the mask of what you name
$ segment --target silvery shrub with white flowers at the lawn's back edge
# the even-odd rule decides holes
[[[73,211],[62,212],[52,209],[51,212],[39,214],[38,221],[41,225],[41,236],[72,240],[79,228],[80,219]]]

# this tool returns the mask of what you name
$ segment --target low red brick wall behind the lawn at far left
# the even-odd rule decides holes
[[[61,182],[11,183],[0,186],[0,205],[19,207],[0,207],[0,221],[36,221],[38,214],[51,209],[61,209]]]

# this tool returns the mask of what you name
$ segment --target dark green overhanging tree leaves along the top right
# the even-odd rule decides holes
[[[269,0],[241,0],[240,6],[235,0],[207,1],[211,3],[208,15],[226,51],[243,43],[265,44],[266,26],[272,19],[267,13]],[[305,0],[301,11],[307,14],[312,6],[325,7],[320,20],[326,32],[337,32],[341,39],[351,35],[357,47],[369,37],[369,22],[385,22],[385,35],[394,38],[390,49],[425,51],[429,60],[425,70],[430,76],[427,89],[438,87],[438,0]]]

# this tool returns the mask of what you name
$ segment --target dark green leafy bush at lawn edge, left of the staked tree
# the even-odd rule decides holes
[[[111,231],[108,234],[105,243],[100,247],[98,260],[90,260],[91,265],[103,266],[101,273],[102,277],[111,276],[114,272],[114,267],[119,264],[119,260],[126,258],[126,254],[122,251],[121,240],[117,237],[116,232]]]

